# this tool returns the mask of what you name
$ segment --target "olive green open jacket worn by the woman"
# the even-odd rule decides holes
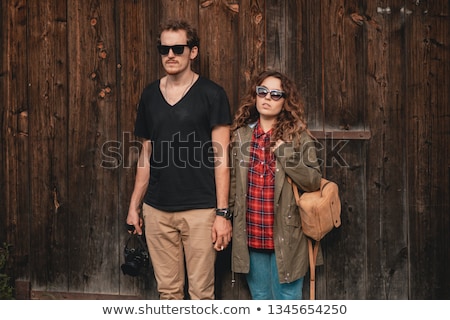
[[[236,273],[248,273],[250,268],[247,246],[246,196],[250,142],[255,125],[233,132],[230,148],[231,181],[230,210],[233,212],[232,264]],[[309,269],[308,241],[301,228],[300,214],[292,186],[286,175],[303,190],[316,191],[322,177],[312,138],[305,132],[300,145],[284,143],[275,150],[275,219],[274,242],[281,283],[303,277]],[[318,264],[322,263],[321,254]]]

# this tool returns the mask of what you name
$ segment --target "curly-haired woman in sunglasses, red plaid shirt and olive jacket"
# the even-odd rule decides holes
[[[232,270],[246,274],[255,300],[301,299],[308,246],[287,177],[315,191],[322,175],[292,80],[259,74],[231,130]]]

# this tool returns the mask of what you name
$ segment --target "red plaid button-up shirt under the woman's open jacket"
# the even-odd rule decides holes
[[[270,151],[270,134],[259,122],[252,135],[248,170],[247,231],[248,246],[255,249],[274,249],[274,190],[275,156]]]

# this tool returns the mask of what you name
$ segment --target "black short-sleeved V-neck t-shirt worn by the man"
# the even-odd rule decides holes
[[[152,141],[144,202],[164,211],[216,207],[211,131],[231,123],[225,90],[203,77],[171,106],[157,80],[142,92],[135,135]]]

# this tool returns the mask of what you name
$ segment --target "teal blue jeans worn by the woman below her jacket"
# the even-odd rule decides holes
[[[246,275],[253,300],[301,300],[303,278],[280,283],[275,253],[250,250],[250,272]]]

